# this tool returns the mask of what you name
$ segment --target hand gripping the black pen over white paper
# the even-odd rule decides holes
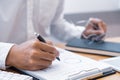
[[[25,70],[47,68],[56,59],[59,52],[52,46],[38,39],[14,45],[6,59],[6,65]]]

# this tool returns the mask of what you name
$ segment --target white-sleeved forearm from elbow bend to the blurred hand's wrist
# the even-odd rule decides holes
[[[75,26],[64,19],[59,19],[52,25],[51,33],[62,41],[68,41],[72,38],[80,38],[84,31],[83,26]]]

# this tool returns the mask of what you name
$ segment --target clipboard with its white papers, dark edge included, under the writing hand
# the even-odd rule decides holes
[[[93,59],[57,48],[61,61],[55,60],[53,64],[43,70],[21,70],[38,80],[87,80],[114,73],[107,64]]]

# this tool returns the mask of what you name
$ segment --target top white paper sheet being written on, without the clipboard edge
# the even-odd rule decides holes
[[[77,55],[75,53],[57,48],[60,52],[60,61],[55,60],[52,65],[46,69],[38,71],[22,70],[40,80],[69,80],[69,77],[80,75],[92,70],[107,68],[95,60]]]

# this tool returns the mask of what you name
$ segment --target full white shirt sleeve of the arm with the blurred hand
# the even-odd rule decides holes
[[[85,27],[75,26],[74,24],[66,21],[62,13],[64,7],[63,5],[64,0],[61,0],[51,25],[51,34],[66,42],[72,38],[80,38]]]

